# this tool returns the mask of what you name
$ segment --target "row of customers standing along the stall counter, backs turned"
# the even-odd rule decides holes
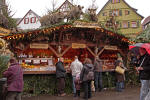
[[[61,64],[60,64],[61,63]],[[115,66],[120,66],[125,69],[123,60],[118,58],[115,62]],[[98,56],[92,62],[90,58],[85,58],[84,62],[80,62],[78,56],[74,57],[74,61],[70,65],[72,74],[72,89],[73,96],[80,97],[80,88],[83,88],[85,100],[92,97],[92,82],[94,81],[94,91],[101,92],[103,89],[102,82],[102,62]],[[61,74],[61,75],[60,75]],[[63,65],[63,58],[61,57],[56,63],[56,76],[58,80],[58,95],[64,96],[65,85],[65,68]],[[116,73],[116,91],[122,92],[125,88],[124,81],[125,75]]]

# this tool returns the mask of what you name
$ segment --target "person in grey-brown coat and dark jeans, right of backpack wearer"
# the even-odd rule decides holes
[[[95,57],[94,61],[94,86],[95,91],[102,91],[102,63],[98,56]]]

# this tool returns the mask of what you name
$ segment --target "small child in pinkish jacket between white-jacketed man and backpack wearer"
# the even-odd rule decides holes
[[[78,97],[80,97],[80,83],[80,73],[78,73],[75,79],[76,96]]]

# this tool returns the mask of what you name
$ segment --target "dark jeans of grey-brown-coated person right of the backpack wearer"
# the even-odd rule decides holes
[[[103,88],[102,83],[102,72],[95,72],[94,73],[94,85],[95,85],[95,91],[99,90],[101,91]]]

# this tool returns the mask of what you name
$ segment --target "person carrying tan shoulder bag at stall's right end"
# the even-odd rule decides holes
[[[120,66],[124,68],[123,61],[118,59],[115,62],[115,67]],[[124,68],[125,69],[125,68]],[[125,74],[120,74],[116,72],[116,90],[118,92],[122,92],[124,89],[124,81],[125,81]]]

